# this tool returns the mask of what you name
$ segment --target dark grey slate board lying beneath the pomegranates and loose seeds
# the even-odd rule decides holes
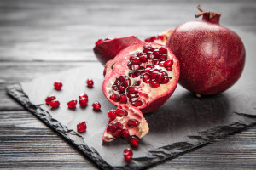
[[[100,65],[98,68],[102,70]],[[97,68],[81,67],[55,75],[49,74],[31,82],[10,85],[7,91],[102,169],[143,169],[211,143],[215,139],[223,139],[230,133],[256,123],[253,99],[236,87],[216,96],[196,98],[177,86],[177,90],[165,105],[144,115],[148,121],[149,133],[140,140],[137,149],[132,149],[132,161],[125,162],[122,154],[129,147],[127,140],[102,142],[102,133],[108,123],[107,112],[115,106],[102,94],[103,79],[96,78],[99,75],[92,77],[95,81],[94,88],[85,86],[91,69]],[[63,82],[61,91],[52,88],[55,80]],[[78,99],[83,92],[89,95],[88,106],[84,109],[79,106],[75,110],[67,109],[67,102]],[[60,100],[60,108],[51,110],[44,104],[44,99],[49,94]],[[240,97],[236,98],[237,95]],[[91,109],[95,100],[102,104],[102,111],[95,112]],[[88,128],[85,133],[77,133],[76,125],[82,121],[87,122]]]

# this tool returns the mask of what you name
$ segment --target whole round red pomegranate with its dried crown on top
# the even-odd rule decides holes
[[[241,76],[245,48],[241,38],[220,26],[220,14],[201,10],[201,21],[183,23],[172,32],[166,46],[180,62],[179,83],[195,94],[219,94]]]

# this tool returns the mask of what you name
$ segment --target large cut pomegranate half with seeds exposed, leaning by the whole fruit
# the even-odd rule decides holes
[[[163,105],[177,87],[176,57],[154,42],[125,48],[105,67],[103,93],[113,105],[125,103],[147,113]]]

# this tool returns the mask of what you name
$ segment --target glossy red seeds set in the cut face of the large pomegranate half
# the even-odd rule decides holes
[[[143,105],[139,99],[139,86],[141,82],[149,84],[151,88],[158,88],[161,84],[166,84],[172,77],[168,76],[168,71],[172,71],[173,60],[168,59],[168,52],[165,47],[154,48],[150,45],[144,46],[141,52],[131,54],[128,75],[116,77],[113,82],[113,94],[110,99],[120,104],[128,102],[133,106]],[[131,84],[131,80],[136,79]]]

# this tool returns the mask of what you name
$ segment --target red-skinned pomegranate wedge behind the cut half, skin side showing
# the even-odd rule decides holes
[[[105,65],[108,60],[113,59],[119,51],[130,46],[133,43],[142,42],[135,36],[119,37],[112,40],[100,40],[96,42],[96,46],[93,48],[96,58]]]

